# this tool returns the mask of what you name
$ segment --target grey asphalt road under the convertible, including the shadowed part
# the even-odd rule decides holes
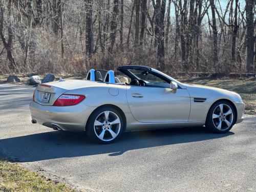
[[[256,117],[228,134],[204,127],[127,132],[98,145],[32,124],[33,89],[0,84],[0,150],[90,191],[256,191]]]

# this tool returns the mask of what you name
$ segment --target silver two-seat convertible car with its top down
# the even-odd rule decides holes
[[[149,67],[90,70],[85,80],[39,84],[30,103],[32,123],[86,131],[100,143],[130,130],[203,126],[226,133],[243,120],[237,93],[185,84]]]

